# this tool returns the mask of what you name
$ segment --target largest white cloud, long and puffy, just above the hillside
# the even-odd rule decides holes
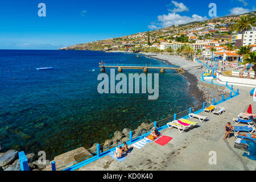
[[[168,27],[172,26],[174,24],[184,24],[189,22],[195,22],[195,21],[204,21],[207,20],[207,16],[200,16],[193,14],[192,17],[190,16],[181,16],[176,13],[168,13],[168,15],[159,15],[158,21],[160,22],[159,25],[162,27]]]

